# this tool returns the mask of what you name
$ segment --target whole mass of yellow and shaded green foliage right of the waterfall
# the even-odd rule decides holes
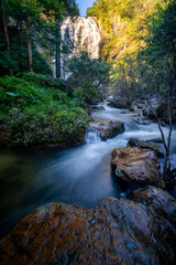
[[[103,34],[102,55],[113,61],[114,94],[163,93],[176,76],[174,0],[97,0],[88,10]]]

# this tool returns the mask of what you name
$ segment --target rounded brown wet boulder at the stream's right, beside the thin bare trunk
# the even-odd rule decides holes
[[[117,148],[112,152],[112,171],[129,183],[160,183],[160,162],[154,151],[139,147]]]

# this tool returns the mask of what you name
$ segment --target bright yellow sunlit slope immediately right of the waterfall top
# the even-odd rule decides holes
[[[142,46],[148,18],[164,0],[98,0],[87,14],[96,17],[101,33],[101,55],[108,60],[136,53]]]

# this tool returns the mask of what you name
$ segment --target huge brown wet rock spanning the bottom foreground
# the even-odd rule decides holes
[[[135,201],[102,199],[95,209],[45,204],[0,242],[0,264],[174,265],[176,201],[152,189],[138,191]]]

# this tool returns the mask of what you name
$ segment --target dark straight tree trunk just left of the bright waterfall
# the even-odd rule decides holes
[[[56,77],[62,77],[61,72],[62,65],[61,65],[61,19],[59,14],[56,18]]]

